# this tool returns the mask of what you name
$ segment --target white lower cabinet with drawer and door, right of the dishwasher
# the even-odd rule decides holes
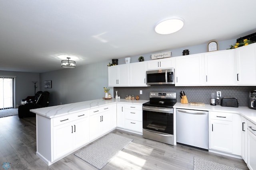
[[[209,148],[241,156],[241,116],[210,111]]]

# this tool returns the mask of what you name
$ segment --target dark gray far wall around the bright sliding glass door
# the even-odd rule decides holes
[[[0,75],[2,76],[16,76],[16,85],[15,85],[15,106],[20,105],[20,100],[25,99],[27,96],[35,95],[34,83],[32,81],[37,81],[36,92],[40,89],[39,83],[39,73],[30,73],[30,72],[14,72],[14,71],[1,71]]]

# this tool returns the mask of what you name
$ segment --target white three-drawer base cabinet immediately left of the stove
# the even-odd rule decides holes
[[[125,105],[125,129],[142,133],[142,105]]]

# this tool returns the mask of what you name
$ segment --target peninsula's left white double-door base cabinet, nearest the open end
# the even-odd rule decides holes
[[[56,119],[60,124],[52,128],[53,160],[89,142],[87,111]]]

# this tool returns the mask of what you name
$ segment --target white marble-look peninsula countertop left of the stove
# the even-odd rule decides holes
[[[38,115],[42,115],[44,117],[53,118],[62,115],[67,115],[70,113],[75,113],[78,111],[84,111],[87,109],[92,109],[100,106],[104,106],[107,104],[113,103],[124,103],[124,104],[144,104],[148,102],[148,100],[125,100],[125,99],[96,99],[96,100],[89,100],[84,102],[77,102],[71,104],[63,104],[57,106],[50,106],[50,107],[42,107],[38,109],[31,109],[30,111],[36,113]]]

